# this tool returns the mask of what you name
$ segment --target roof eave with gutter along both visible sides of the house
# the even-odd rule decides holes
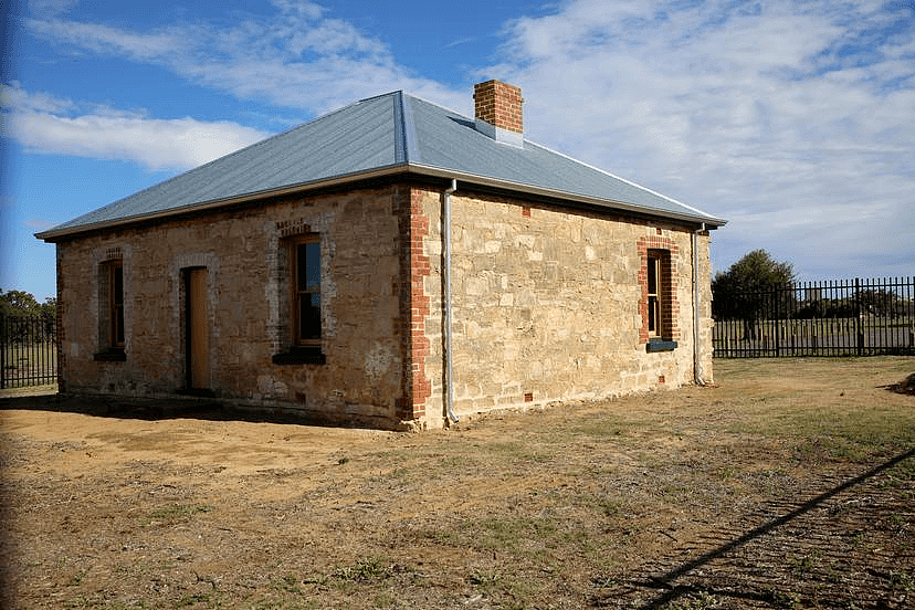
[[[146,214],[136,214],[132,217],[124,217],[115,220],[106,220],[103,222],[94,222],[90,224],[80,224],[77,227],[67,227],[64,229],[51,229],[49,231],[42,231],[40,233],[35,233],[35,238],[40,240],[44,240],[49,243],[54,243],[57,241],[62,241],[66,238],[72,238],[74,235],[78,235],[81,233],[88,233],[95,231],[102,231],[106,229],[115,229],[118,227],[124,227],[128,224],[135,224],[138,222],[149,222],[156,220],[162,220],[175,215],[188,214],[188,213],[199,213],[210,210],[215,210],[219,208],[224,208],[228,206],[238,206],[240,203],[248,203],[251,201],[256,201],[260,199],[265,199],[269,197],[280,197],[284,194],[292,194],[296,192],[307,191],[307,190],[316,190],[316,189],[324,189],[324,188],[332,188],[337,187],[350,182],[356,182],[359,180],[368,180],[372,178],[385,178],[389,176],[396,176],[398,173],[417,173],[420,176],[428,176],[433,178],[444,178],[444,179],[456,179],[465,182],[471,182],[474,185],[483,186],[483,187],[491,187],[496,189],[504,189],[511,190],[520,193],[533,194],[536,197],[546,197],[550,199],[557,199],[568,202],[575,202],[578,204],[585,204],[595,208],[601,209],[613,209],[619,210],[622,212],[631,212],[641,215],[649,215],[661,219],[669,219],[669,220],[679,220],[685,221],[691,223],[702,223],[705,224],[709,229],[717,229],[723,227],[727,221],[711,217],[711,215],[703,215],[703,214],[690,214],[690,213],[682,213],[682,212],[671,212],[666,210],[659,210],[655,208],[649,208],[644,206],[638,206],[634,203],[627,203],[623,201],[613,201],[609,199],[601,199],[598,197],[590,197],[586,194],[579,193],[571,193],[555,189],[548,189],[544,187],[536,187],[532,185],[525,185],[522,182],[513,182],[511,180],[503,180],[498,178],[491,178],[486,176],[478,176],[475,173],[466,173],[462,171],[454,171],[449,169],[443,169],[433,166],[423,166],[419,164],[398,164],[392,166],[387,166],[382,168],[366,170],[366,171],[358,171],[354,173],[347,173],[344,176],[336,176],[333,178],[326,178],[322,180],[314,180],[311,182],[301,182],[297,185],[290,185],[286,187],[271,189],[265,191],[245,193],[236,197],[230,197],[225,199],[214,199],[210,201],[202,201],[200,203],[193,203],[191,206],[182,206],[180,208],[172,208],[169,210],[162,210],[158,212],[151,212]]]

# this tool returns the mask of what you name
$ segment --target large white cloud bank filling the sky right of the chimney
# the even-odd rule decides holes
[[[911,274],[913,12],[575,0],[509,23],[486,73],[522,86],[535,139],[729,219],[717,269],[767,248]]]

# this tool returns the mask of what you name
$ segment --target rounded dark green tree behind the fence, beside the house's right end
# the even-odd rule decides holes
[[[712,281],[712,313],[719,319],[743,319],[744,340],[755,339],[757,322],[766,312],[767,304],[771,303],[772,295],[792,298],[793,293],[788,288],[793,282],[791,263],[780,263],[765,250],[754,250],[726,272],[715,275]]]

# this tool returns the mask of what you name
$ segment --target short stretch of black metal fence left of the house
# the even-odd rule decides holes
[[[56,379],[56,319],[0,314],[0,390],[53,383]]]

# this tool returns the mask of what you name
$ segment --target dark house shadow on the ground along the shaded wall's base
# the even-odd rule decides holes
[[[43,393],[0,398],[0,411],[25,410],[78,413],[98,418],[202,421],[242,421],[248,423],[291,423],[330,428],[360,428],[357,424],[330,422],[280,408],[244,408],[206,397],[134,398],[117,396],[72,396]]]

